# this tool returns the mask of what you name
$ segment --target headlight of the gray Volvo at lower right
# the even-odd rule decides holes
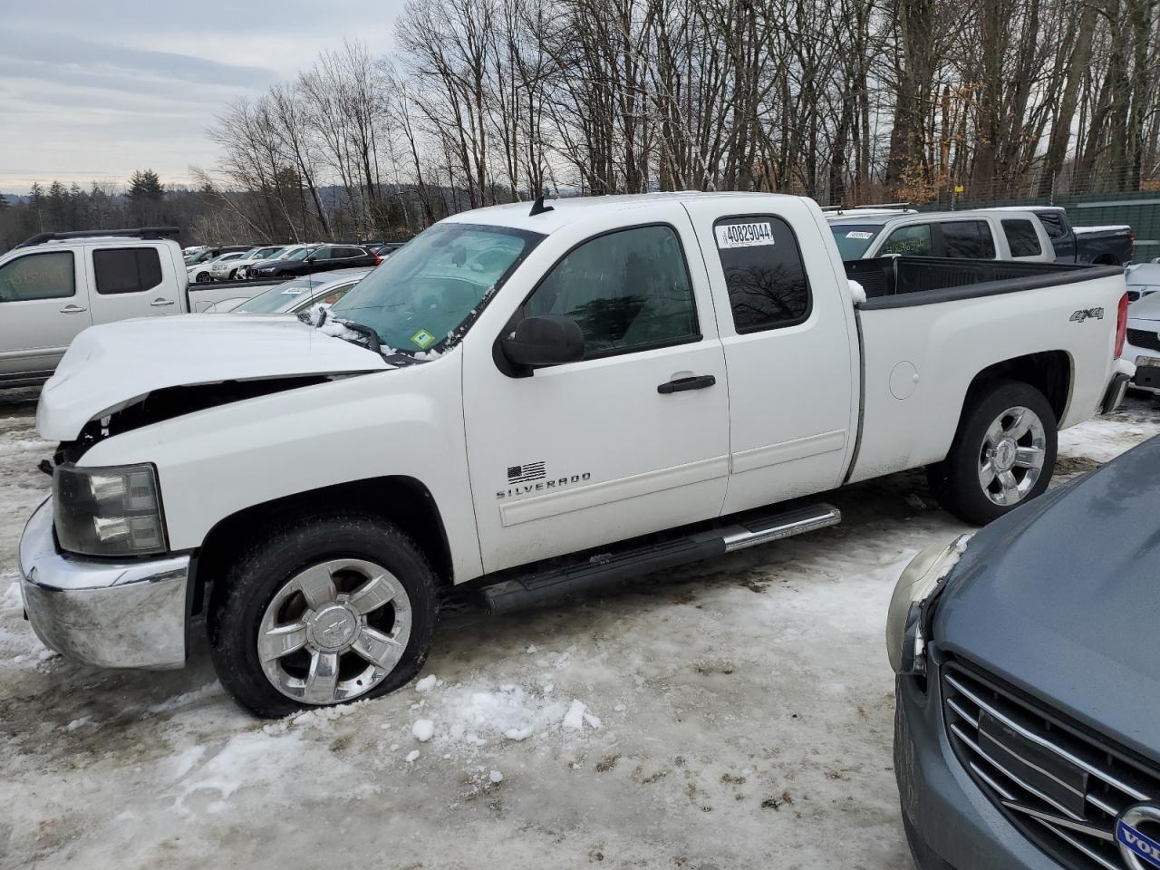
[[[898,578],[886,611],[886,654],[896,674],[926,673],[922,603],[958,564],[970,539],[970,535],[959,535],[945,546],[931,544],[915,556]]]

